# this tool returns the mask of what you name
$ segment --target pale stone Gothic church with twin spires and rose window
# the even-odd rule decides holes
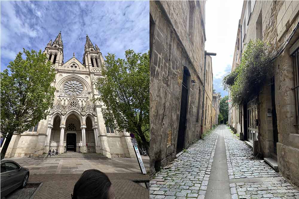
[[[44,53],[57,71],[53,107],[46,120],[21,135],[13,135],[5,158],[37,157],[49,149],[135,158],[129,133],[106,126],[102,114],[105,105],[93,102],[100,96],[97,80],[105,78],[101,72],[104,59],[97,44],[94,46],[86,36],[82,62],[75,54],[64,62],[59,33]]]

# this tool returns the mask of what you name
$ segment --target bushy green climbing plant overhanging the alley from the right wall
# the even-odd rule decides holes
[[[233,106],[258,95],[272,66],[269,44],[257,39],[245,45],[239,67],[222,80],[224,89],[231,92]]]

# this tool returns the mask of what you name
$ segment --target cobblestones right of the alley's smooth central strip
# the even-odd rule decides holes
[[[225,129],[225,148],[232,199],[299,199],[298,187],[256,159],[252,148],[229,129]]]

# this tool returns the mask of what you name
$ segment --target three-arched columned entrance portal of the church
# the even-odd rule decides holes
[[[61,116],[55,113],[48,125],[45,150],[58,149],[59,153],[100,153],[97,125],[91,114],[79,115],[71,111]]]

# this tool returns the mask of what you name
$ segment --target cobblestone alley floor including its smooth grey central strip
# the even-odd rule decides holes
[[[298,187],[275,172],[225,125],[197,141],[151,180],[149,198],[299,199]]]

